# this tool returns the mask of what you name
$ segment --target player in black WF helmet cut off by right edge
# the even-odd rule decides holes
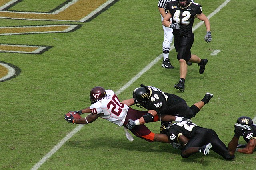
[[[239,148],[236,151],[244,154],[252,154],[256,146],[256,125],[253,124],[252,119],[250,117],[246,116],[239,117],[236,123],[241,125],[247,125],[250,127],[248,131],[244,131],[242,133],[237,133],[235,131],[235,135],[233,138],[235,138],[236,143],[234,143],[233,145],[238,144],[240,136],[243,136],[244,140],[247,143],[246,145],[238,144]]]

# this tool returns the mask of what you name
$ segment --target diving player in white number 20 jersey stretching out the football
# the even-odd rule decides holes
[[[90,100],[92,105],[85,109],[75,111],[76,114],[91,113],[85,118],[74,119],[65,115],[66,121],[76,124],[89,124],[101,117],[118,125],[124,126],[126,137],[132,141],[132,136],[126,129],[126,124],[129,120],[136,120],[147,113],[147,111],[139,111],[128,107],[126,104],[119,101],[118,97],[112,90],[104,90],[102,87],[92,88],[90,91]],[[161,115],[154,117],[154,121],[181,121],[181,117],[172,115]],[[145,139],[146,141],[169,143],[168,137],[163,134],[152,133],[145,125],[138,125],[130,130],[135,136]]]

